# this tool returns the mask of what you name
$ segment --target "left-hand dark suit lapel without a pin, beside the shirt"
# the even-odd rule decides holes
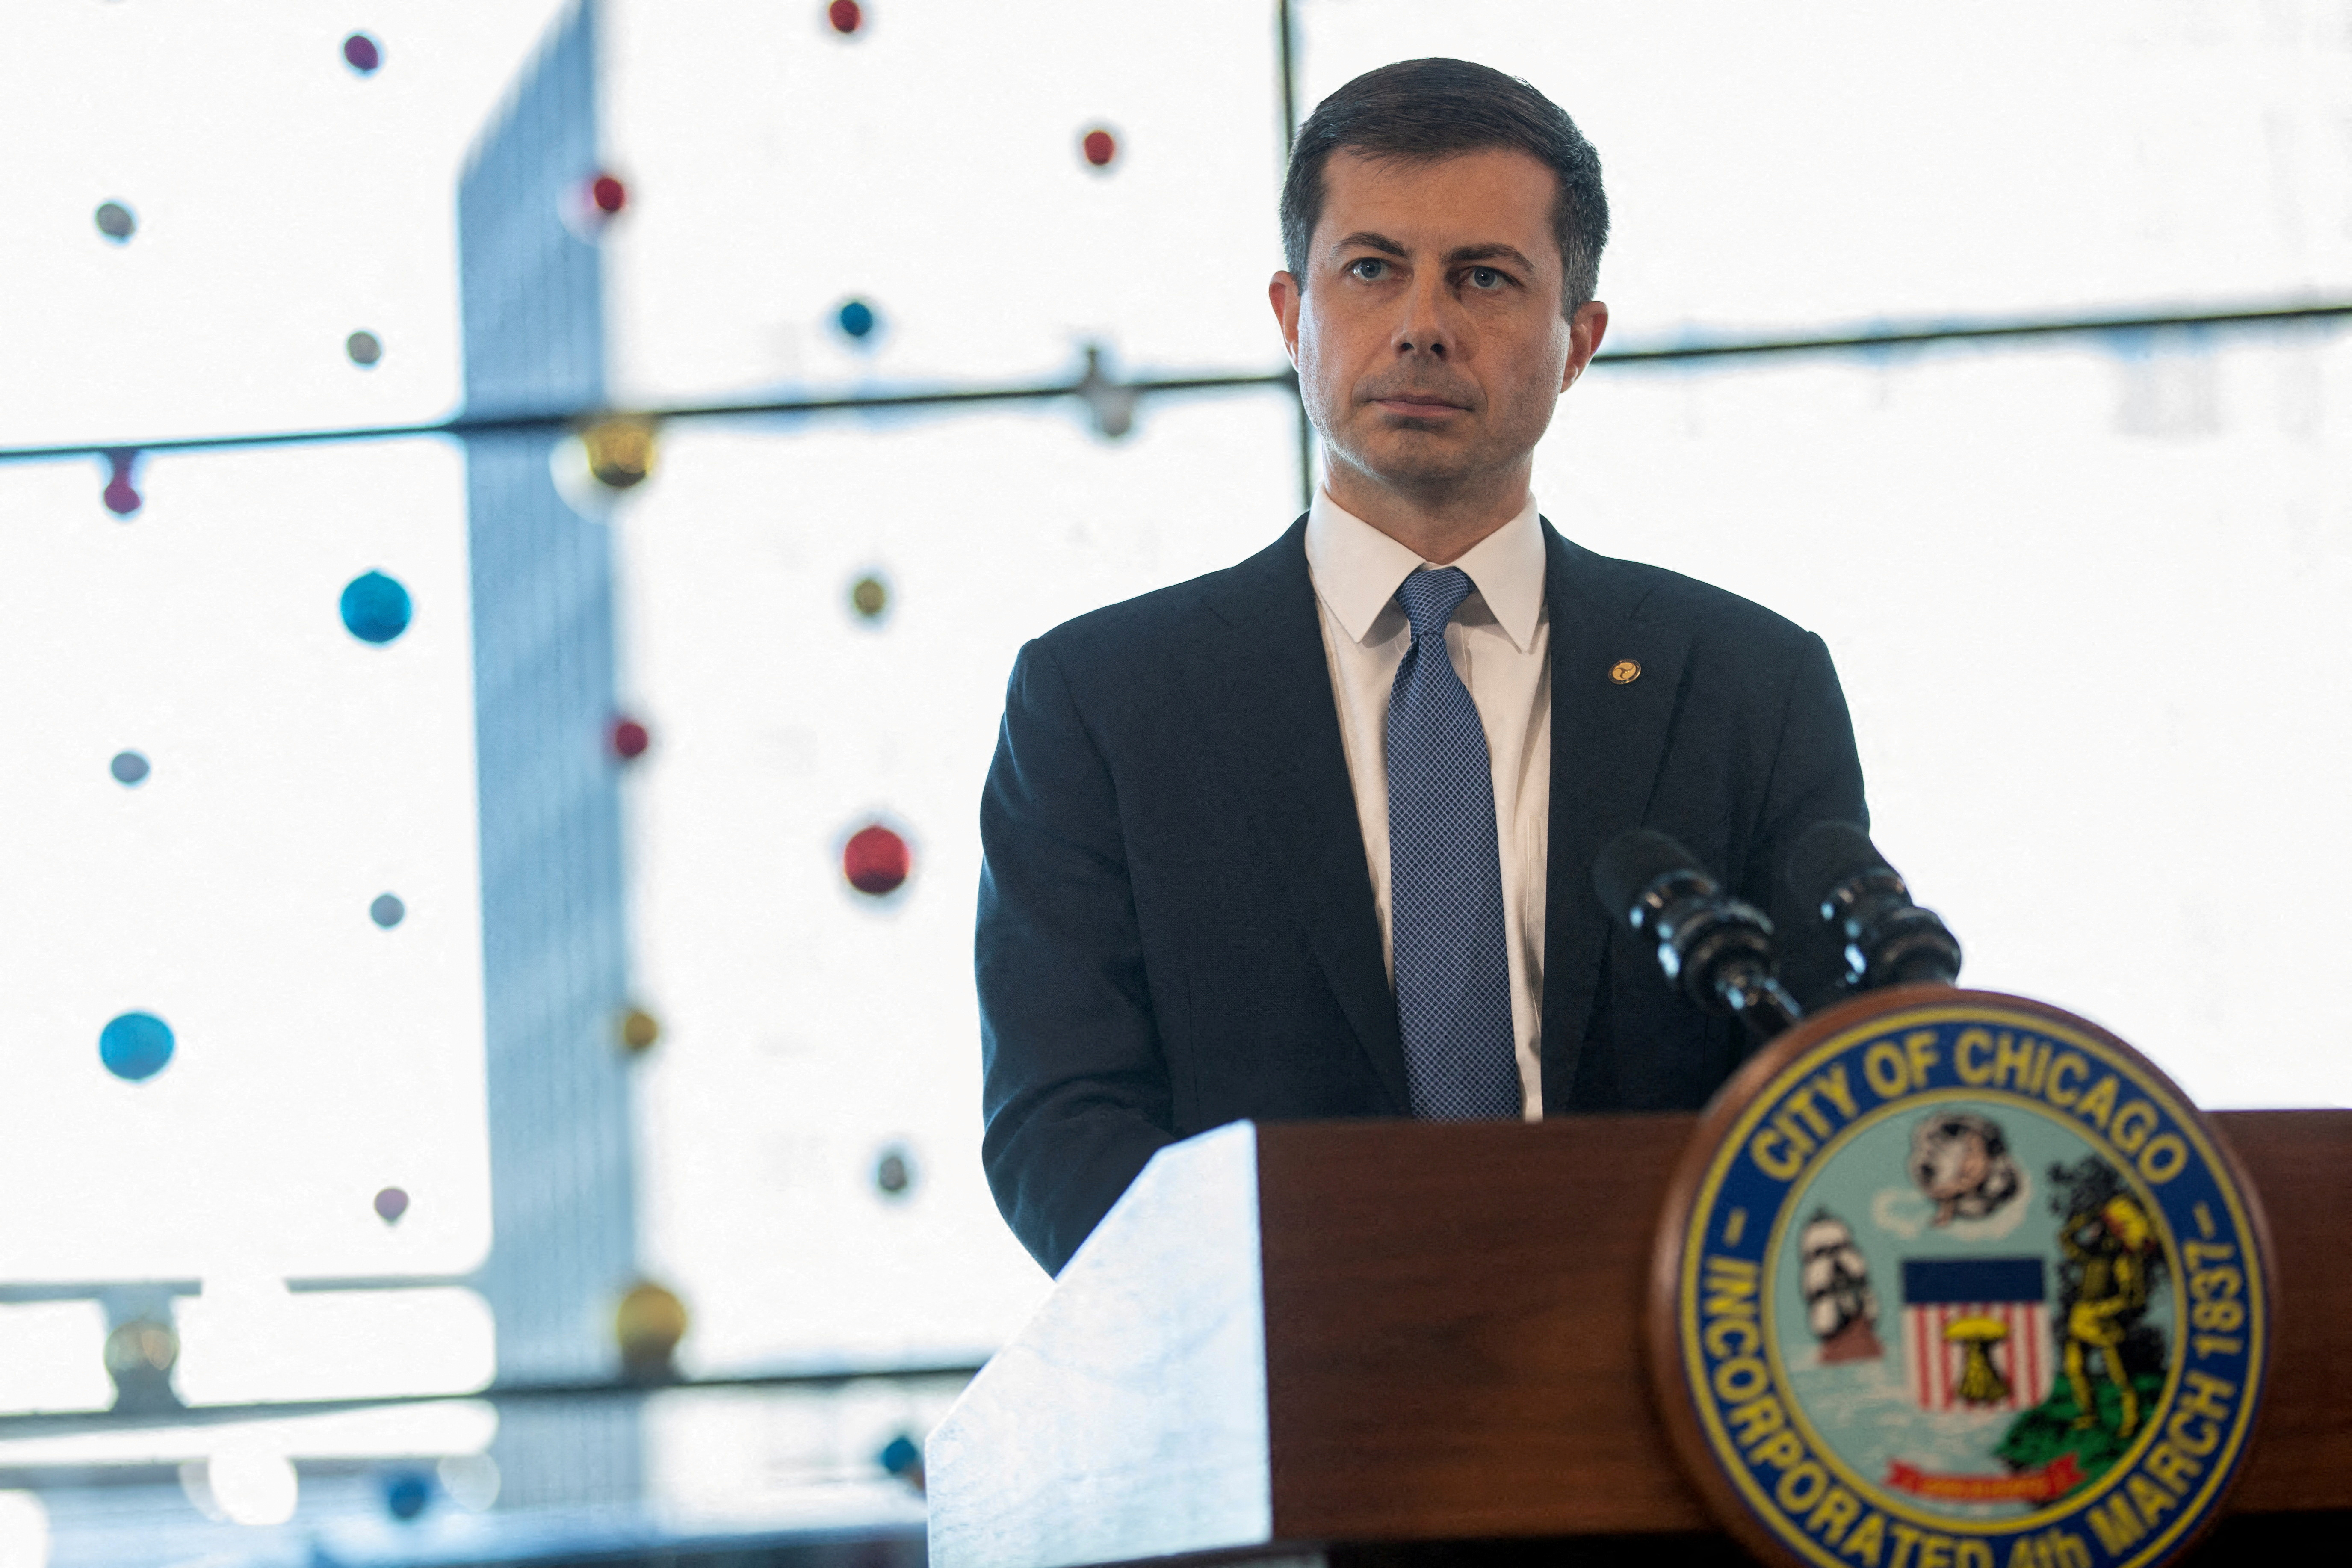
[[[1411,1105],[1404,1041],[1308,578],[1305,517],[1211,578],[1207,597],[1225,635],[1204,658],[1200,693],[1223,724],[1225,776],[1242,780],[1315,959],[1402,1114]]]

